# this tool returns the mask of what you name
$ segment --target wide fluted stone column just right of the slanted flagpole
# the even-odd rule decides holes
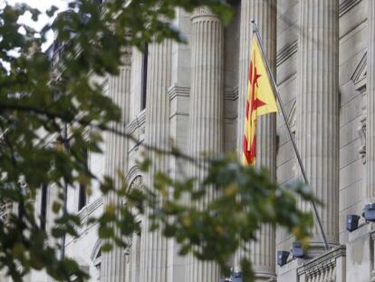
[[[296,140],[330,244],[339,242],[338,1],[302,0]],[[310,209],[303,204],[304,209]],[[323,248],[317,224],[312,248]]]

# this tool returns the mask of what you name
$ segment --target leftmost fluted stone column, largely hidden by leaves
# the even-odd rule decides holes
[[[124,124],[129,122],[130,116],[130,56],[129,51],[124,58],[124,64],[120,67],[119,75],[109,78],[109,96],[121,108],[121,122],[112,124],[119,131],[123,131]],[[129,140],[109,133],[107,144],[105,170],[106,174],[115,180],[115,186],[118,188],[121,185],[118,171],[126,171],[128,167]],[[121,205],[121,200],[114,193],[110,193],[104,202],[107,205]],[[126,273],[124,249],[114,247],[110,252],[102,253],[101,256],[101,281],[123,281]]]

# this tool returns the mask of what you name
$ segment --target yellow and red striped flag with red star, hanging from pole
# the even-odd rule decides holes
[[[256,119],[260,115],[277,112],[274,89],[256,36],[253,38],[247,87],[242,163],[255,165]]]

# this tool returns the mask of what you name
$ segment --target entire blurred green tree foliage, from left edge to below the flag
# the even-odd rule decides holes
[[[92,180],[101,182],[103,195],[118,193],[127,202],[108,206],[100,218],[89,219],[99,224],[99,237],[109,242],[102,251],[111,249],[111,243],[126,247],[124,236],[139,231],[136,216],[146,209],[151,210],[152,228],[176,238],[182,255],[192,252],[197,258],[214,260],[226,272],[228,258],[239,248],[247,250],[245,242],[255,238],[262,223],[280,224],[306,240],[312,219],[297,209],[295,194],[312,200],[310,191],[301,185],[278,187],[264,172],[245,168],[233,158],[205,161],[203,183],[159,173],[155,187],[143,190],[127,190],[125,182],[115,187],[110,177],[100,180],[84,164],[82,151],[101,152],[103,132],[126,136],[111,128],[113,122],[120,122],[120,109],[91,77],[116,75],[130,46],[141,49],[145,42],[166,38],[184,42],[169,23],[176,7],[192,11],[198,5],[210,6],[225,23],[230,20],[230,8],[219,0],[113,0],[101,7],[94,1],[76,0],[42,31],[20,24],[21,15],[30,13],[35,21],[40,15],[28,5],[5,5],[0,11],[0,199],[14,203],[12,212],[0,221],[0,269],[14,281],[23,281],[31,269],[45,269],[63,281],[70,281],[72,275],[79,281],[87,278],[77,262],[60,257],[60,242],[66,235],[77,237],[82,225],[75,214],[63,212],[64,190]],[[53,7],[47,14],[55,12]],[[52,29],[57,44],[55,57],[50,58],[41,50]],[[66,124],[69,139],[64,134]],[[163,153],[199,161],[175,149]],[[142,163],[145,170],[149,161]],[[35,194],[45,183],[58,195],[51,232],[34,217]],[[199,203],[207,190],[216,190],[217,198],[202,209]],[[189,204],[182,200],[186,195]],[[248,258],[243,264],[249,269]]]

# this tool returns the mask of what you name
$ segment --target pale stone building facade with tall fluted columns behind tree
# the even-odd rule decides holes
[[[147,53],[128,50],[120,75],[102,83],[123,109],[126,131],[137,142],[106,136],[105,154],[89,156],[91,170],[114,175],[118,168],[130,186],[150,185],[150,175],[137,167],[142,142],[163,148],[173,141],[193,156],[239,151],[253,18],[312,189],[325,203],[318,212],[332,248],[324,251],[319,230],[313,229],[310,257],[290,256],[279,267],[276,251],[289,250],[293,237],[264,226],[252,243],[257,281],[375,281],[375,227],[361,219],[360,229],[346,230],[347,214],[361,214],[365,203],[375,200],[375,1],[230,3],[235,16],[227,26],[207,8],[193,14],[178,10],[173,24],[188,44],[166,41],[149,44]],[[282,116],[261,117],[258,128],[258,163],[281,185],[300,177]],[[204,177],[177,160],[156,160],[151,173],[163,170],[178,178],[184,170]],[[103,199],[95,185],[82,207],[79,198],[78,190],[69,191],[69,209],[83,222],[101,214],[106,202],[120,200]],[[179,257],[176,242],[149,233],[147,220],[142,224],[144,231],[130,238],[129,249],[105,254],[97,227],[84,225],[80,238],[67,238],[66,254],[79,261],[91,281],[220,281],[215,265]],[[30,281],[49,280],[33,273]]]

